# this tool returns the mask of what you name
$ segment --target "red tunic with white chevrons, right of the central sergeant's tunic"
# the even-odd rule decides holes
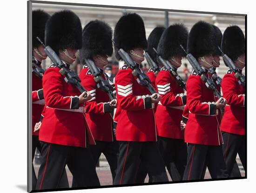
[[[181,130],[182,113],[186,104],[184,90],[165,67],[158,73],[155,84],[162,97],[155,113],[157,135],[184,139],[184,131]]]

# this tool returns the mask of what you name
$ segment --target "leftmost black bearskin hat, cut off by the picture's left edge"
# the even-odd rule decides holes
[[[32,47],[37,48],[40,42],[36,39],[39,37],[44,41],[45,25],[50,15],[43,10],[37,9],[32,12]]]

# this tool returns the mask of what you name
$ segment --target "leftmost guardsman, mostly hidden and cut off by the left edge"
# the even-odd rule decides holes
[[[39,43],[36,37],[44,39],[45,25],[50,15],[43,10],[34,10],[32,12],[32,46],[33,46],[33,63],[41,68],[41,62],[43,59],[47,58],[44,51],[43,45]],[[35,66],[33,66],[33,69]],[[38,132],[34,131],[37,126],[37,122],[41,121],[41,113],[44,108],[44,95],[42,89],[42,77],[38,76],[36,73],[32,73],[32,161],[34,160],[35,149],[41,152],[40,142],[38,141]],[[34,172],[34,166],[32,167],[32,187],[35,189],[36,186],[36,175]],[[61,181],[59,184],[60,188],[68,187],[67,173],[64,171]]]

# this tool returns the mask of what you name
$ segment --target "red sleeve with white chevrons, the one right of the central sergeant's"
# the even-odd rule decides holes
[[[161,103],[163,106],[184,106],[187,96],[184,93],[174,94],[172,90],[172,78],[168,71],[159,72],[156,78],[156,87],[161,95]]]

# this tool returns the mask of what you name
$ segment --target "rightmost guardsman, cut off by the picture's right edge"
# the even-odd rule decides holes
[[[229,26],[223,33],[222,51],[229,56],[242,73],[245,67],[245,38],[238,26]],[[222,79],[223,97],[227,99],[225,113],[221,122],[223,154],[228,173],[236,167],[236,155],[245,167],[245,87],[238,83],[235,73],[230,69]],[[235,166],[234,166],[235,164]],[[234,170],[234,169],[233,169]],[[234,176],[233,174],[231,175]],[[240,177],[236,175],[234,177]]]

